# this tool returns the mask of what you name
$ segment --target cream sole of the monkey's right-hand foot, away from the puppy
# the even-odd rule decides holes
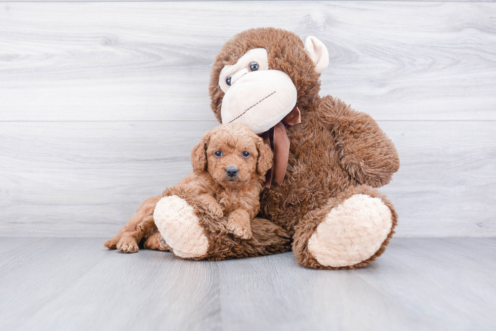
[[[391,210],[381,198],[355,194],[324,215],[307,249],[323,267],[360,267],[379,251],[392,225]]]

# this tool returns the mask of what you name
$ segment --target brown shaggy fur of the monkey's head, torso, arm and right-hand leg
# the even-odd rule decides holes
[[[392,228],[380,249],[360,263],[341,267],[363,267],[380,256],[394,233],[397,215],[392,204],[375,188],[389,183],[398,171],[399,158],[392,141],[365,113],[330,96],[320,98],[320,74],[304,51],[301,38],[276,28],[256,28],[228,40],[212,66],[211,107],[221,121],[224,92],[219,75],[251,49],[267,50],[269,69],[291,77],[298,92],[296,106],[301,124],[287,127],[291,147],[287,171],[281,185],[265,188],[261,216],[283,227],[294,241],[293,251],[304,266],[320,265],[307,250],[307,241],[332,206],[354,194],[380,197],[391,209]]]

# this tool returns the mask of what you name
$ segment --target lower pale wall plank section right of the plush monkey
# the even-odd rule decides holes
[[[398,212],[397,235],[496,235],[496,121],[379,124],[401,164],[381,189]]]

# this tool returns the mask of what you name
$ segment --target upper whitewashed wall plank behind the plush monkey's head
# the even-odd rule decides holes
[[[250,27],[315,35],[322,95],[378,120],[495,120],[496,4],[0,5],[0,120],[212,120],[210,67]]]

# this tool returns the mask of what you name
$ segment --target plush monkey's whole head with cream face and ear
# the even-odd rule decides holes
[[[318,98],[319,73],[328,62],[325,45],[315,37],[303,43],[281,29],[241,32],[226,42],[214,62],[212,109],[223,124],[265,132],[299,103]]]

